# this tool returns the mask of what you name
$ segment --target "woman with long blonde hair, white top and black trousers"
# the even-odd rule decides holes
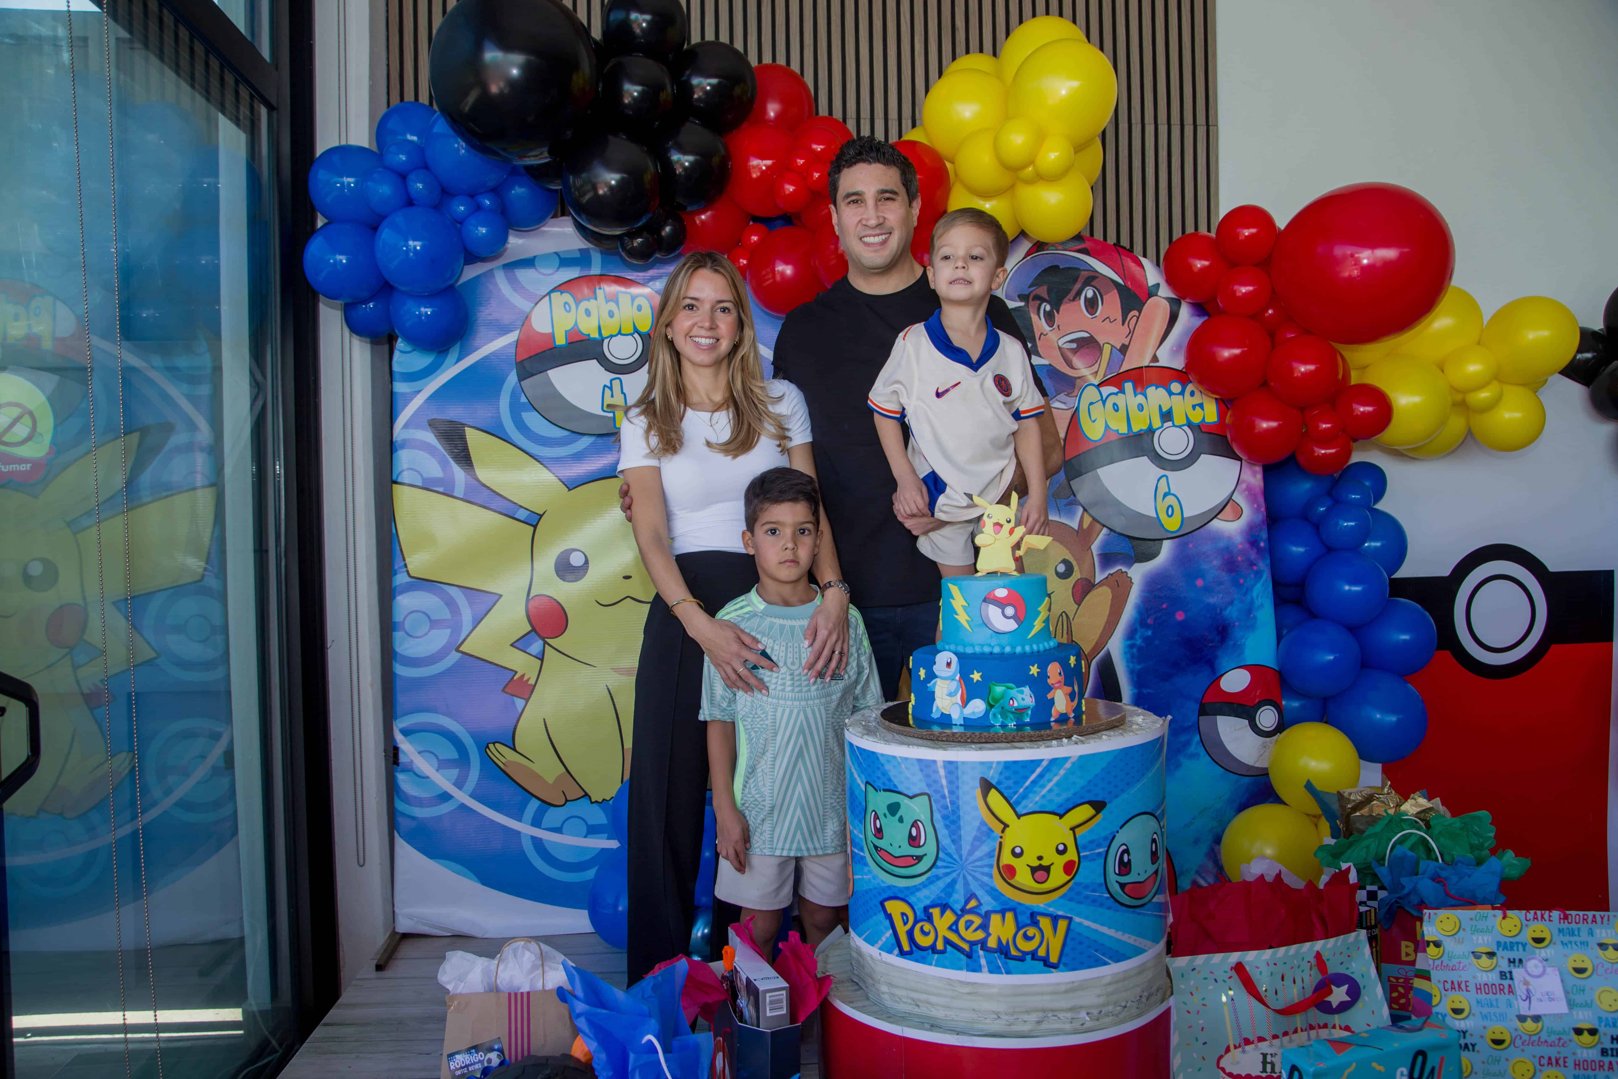
[[[715,618],[759,582],[741,544],[743,492],[772,468],[814,476],[803,393],[764,379],[748,288],[723,256],[691,252],[668,275],[646,391],[625,414],[621,438],[618,474],[634,498],[634,542],[657,586],[634,681],[629,760],[633,984],[689,948],[707,793],[702,657],[743,692],[764,691],[749,665],[777,670],[757,639]],[[804,634],[806,670],[832,678],[848,662],[849,597],[824,519],[812,571],[824,602]]]

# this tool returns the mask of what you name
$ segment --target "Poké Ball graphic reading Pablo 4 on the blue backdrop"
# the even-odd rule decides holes
[[[557,427],[610,435],[646,388],[657,293],[592,273],[539,298],[516,336],[523,396]]]

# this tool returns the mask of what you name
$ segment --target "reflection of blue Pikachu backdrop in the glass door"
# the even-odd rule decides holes
[[[262,849],[238,849],[233,760],[256,755],[231,754],[231,694],[256,739],[257,688],[239,663],[233,683],[230,645],[257,649],[231,639],[231,600],[249,628],[257,608],[227,592],[217,338],[120,356],[104,315],[92,429],[78,260],[11,273],[32,283],[0,269],[0,670],[34,686],[44,728],[39,772],[5,806],[11,948],[112,950],[115,895],[129,946],[142,854],[152,945],[241,937],[243,865]],[[23,759],[21,709],[0,749],[6,768]]]

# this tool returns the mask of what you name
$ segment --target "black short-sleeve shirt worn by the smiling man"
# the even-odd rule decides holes
[[[925,273],[885,294],[862,293],[845,277],[793,309],[775,338],[775,377],[803,390],[809,404],[820,500],[859,607],[938,600],[938,568],[893,516],[898,484],[866,406],[895,338],[937,309],[938,294]],[[998,296],[989,299],[989,320],[1023,340]],[[1034,382],[1039,385],[1037,375]]]

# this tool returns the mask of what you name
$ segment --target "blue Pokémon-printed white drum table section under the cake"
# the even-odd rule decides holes
[[[1167,723],[1016,744],[848,726],[853,972],[940,1029],[1076,1034],[1167,1000]]]

